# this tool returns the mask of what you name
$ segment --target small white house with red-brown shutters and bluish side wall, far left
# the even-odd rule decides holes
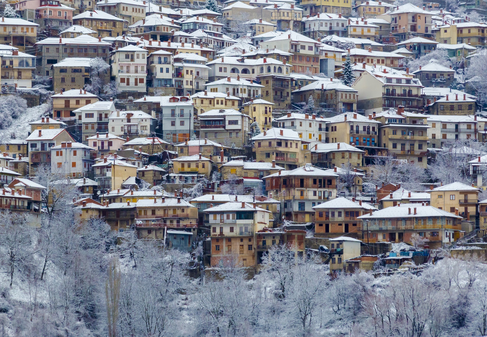
[[[66,177],[84,177],[91,171],[94,160],[91,152],[95,149],[78,142],[61,142],[51,147],[51,172]]]

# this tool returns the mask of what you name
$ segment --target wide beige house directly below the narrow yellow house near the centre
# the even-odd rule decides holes
[[[302,141],[298,132],[290,129],[270,128],[252,137],[256,161],[273,162],[293,170],[311,162],[311,153],[304,150],[308,142]]]

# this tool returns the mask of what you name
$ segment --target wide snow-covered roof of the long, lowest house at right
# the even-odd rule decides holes
[[[416,214],[414,210],[416,209]],[[410,214],[411,213],[411,214]],[[384,218],[418,218],[431,216],[446,216],[461,219],[461,216],[449,213],[433,206],[422,206],[421,204],[401,204],[400,206],[391,206],[375,211],[372,214],[365,214],[358,217],[358,219],[384,219]],[[440,225],[441,226],[441,225]]]

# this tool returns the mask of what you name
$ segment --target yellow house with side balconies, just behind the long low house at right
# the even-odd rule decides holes
[[[431,185],[432,187],[433,185]],[[431,189],[431,206],[462,216],[475,223],[479,189],[461,182]]]

